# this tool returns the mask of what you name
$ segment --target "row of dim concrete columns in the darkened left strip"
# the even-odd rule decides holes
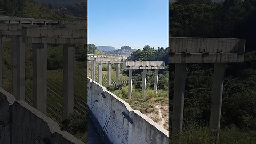
[[[21,36],[12,36],[12,92],[25,101],[25,43]],[[2,43],[1,37],[1,43]],[[2,44],[0,45],[3,51]],[[2,53],[0,54],[2,57]],[[33,44],[33,106],[47,113],[47,44]],[[2,69],[2,63],[0,68]],[[2,70],[1,71],[1,86]],[[74,44],[63,45],[63,119],[74,111]]]

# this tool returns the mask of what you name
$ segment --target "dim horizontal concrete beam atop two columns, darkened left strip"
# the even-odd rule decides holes
[[[86,44],[86,29],[22,27],[25,43]]]

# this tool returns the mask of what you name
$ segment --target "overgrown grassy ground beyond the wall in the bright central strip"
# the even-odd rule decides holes
[[[88,76],[91,77],[91,62],[88,64],[89,72]],[[122,67],[122,66],[121,66]],[[107,87],[107,65],[103,65],[103,86]],[[149,118],[153,119],[156,123],[163,126],[166,130],[168,130],[168,122],[169,122],[169,112],[168,112],[168,91],[158,90],[157,94],[154,90],[147,89],[146,93],[143,94],[141,89],[135,89],[133,86],[132,89],[132,99],[127,99],[128,95],[128,76],[122,73],[123,69],[121,69],[120,74],[120,83],[122,87],[118,90],[109,91],[116,94],[119,98],[123,99],[127,103],[130,104],[132,109],[139,110],[141,113],[145,114]],[[98,78],[98,66],[96,67],[96,81]],[[116,71],[113,67],[111,71],[111,85],[115,87],[116,85]]]

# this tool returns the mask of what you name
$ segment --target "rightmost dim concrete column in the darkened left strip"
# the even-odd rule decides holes
[[[63,120],[74,113],[74,47],[74,44],[63,45]]]

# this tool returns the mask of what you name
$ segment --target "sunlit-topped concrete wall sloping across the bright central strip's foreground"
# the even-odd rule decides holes
[[[133,110],[128,103],[90,78],[87,87],[89,109],[102,129],[106,127],[106,135],[112,143],[168,143],[168,131],[152,119]]]

